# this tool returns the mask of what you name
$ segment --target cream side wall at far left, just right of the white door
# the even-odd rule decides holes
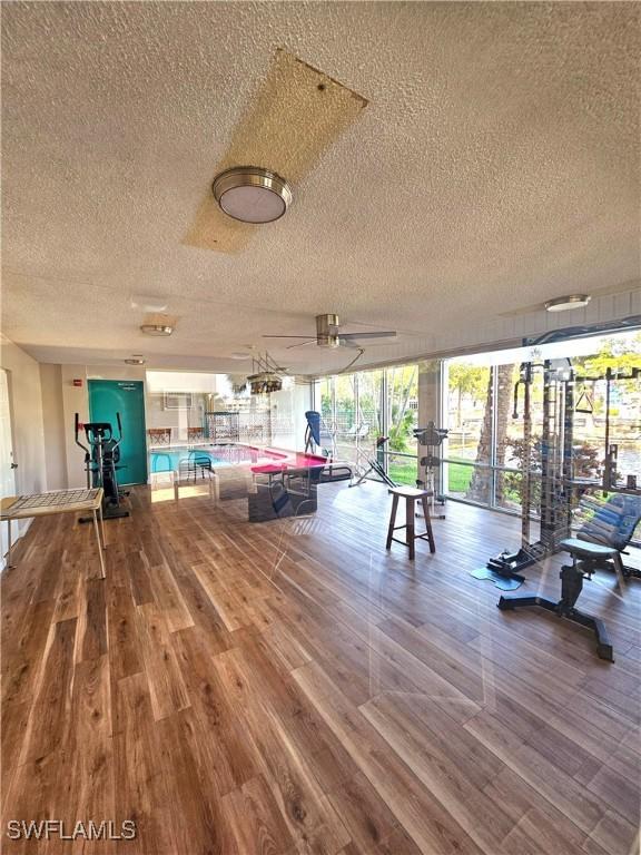
[[[47,489],[42,394],[39,365],[4,336],[0,338],[0,366],[9,379],[16,488],[19,494]],[[27,529],[22,521],[20,532]]]

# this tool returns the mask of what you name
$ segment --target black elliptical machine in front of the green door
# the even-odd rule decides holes
[[[85,438],[87,445],[83,445],[78,439],[80,431],[80,419],[76,413],[76,444],[85,452],[85,472],[87,473],[87,489],[101,487],[105,491],[102,500],[102,517],[106,520],[129,517],[129,511],[120,507],[120,491],[118,490],[118,462],[120,461],[120,449],[122,442],[122,423],[120,413],[116,413],[118,423],[118,439],[114,434],[114,429],[109,422],[86,422]],[[80,520],[85,522],[85,520]]]

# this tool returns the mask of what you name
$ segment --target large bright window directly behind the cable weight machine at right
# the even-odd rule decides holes
[[[588,377],[573,385],[573,476],[602,476],[607,441],[610,448],[618,446],[620,481],[639,472],[641,382],[619,375],[641,367],[641,335],[624,333],[543,345],[535,352],[521,348],[446,361],[443,409],[450,434],[443,478],[448,497],[519,511],[525,466],[536,497],[543,434],[543,362],[566,358],[576,377]],[[522,383],[516,386],[525,362],[533,365],[530,442],[524,435],[524,387]],[[608,384],[604,379],[596,380],[608,371],[612,377],[609,409]],[[535,511],[536,499],[532,507]]]

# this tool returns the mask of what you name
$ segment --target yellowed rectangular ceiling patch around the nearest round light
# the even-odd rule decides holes
[[[214,175],[254,165],[296,185],[366,106],[363,96],[279,48]],[[258,228],[224,214],[208,189],[183,243],[237,253]]]

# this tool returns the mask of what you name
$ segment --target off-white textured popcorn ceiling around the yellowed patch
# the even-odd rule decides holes
[[[42,361],[238,370],[264,333],[402,332],[639,273],[637,3],[4,3],[3,331]],[[276,48],[362,117],[229,256],[183,242]],[[265,164],[265,166],[269,166]],[[131,294],[162,295],[171,338]],[[351,351],[285,351],[300,372]]]

